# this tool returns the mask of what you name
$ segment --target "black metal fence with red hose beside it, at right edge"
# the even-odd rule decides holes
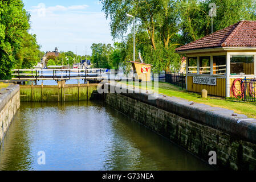
[[[249,102],[256,102],[256,80],[255,79],[242,79],[241,83],[242,100]]]

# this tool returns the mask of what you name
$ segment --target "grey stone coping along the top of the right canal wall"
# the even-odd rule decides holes
[[[111,89],[111,86],[115,86],[108,83],[107,85],[109,89]],[[168,97],[161,94],[153,96],[151,93],[135,94],[134,90],[126,86],[123,86],[123,89],[127,90],[126,93],[121,93],[124,96],[256,143],[256,119],[254,118],[248,118],[243,114],[235,114],[233,110],[199,104],[177,97]],[[155,98],[155,100],[148,100],[149,96]]]

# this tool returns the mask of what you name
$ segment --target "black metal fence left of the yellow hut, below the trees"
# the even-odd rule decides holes
[[[165,73],[165,82],[186,88],[186,75],[184,73]]]

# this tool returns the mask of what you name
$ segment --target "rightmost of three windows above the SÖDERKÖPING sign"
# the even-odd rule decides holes
[[[225,75],[226,56],[213,56],[213,75]]]

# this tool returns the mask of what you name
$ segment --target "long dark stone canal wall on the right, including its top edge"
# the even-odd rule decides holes
[[[256,169],[256,119],[179,98],[128,93],[104,94],[104,100],[206,162],[216,151],[219,168]]]

